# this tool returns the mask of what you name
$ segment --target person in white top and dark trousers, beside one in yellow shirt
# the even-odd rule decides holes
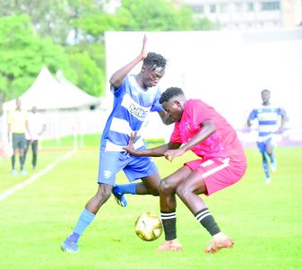
[[[37,167],[37,157],[38,157],[38,142],[40,135],[43,134],[46,128],[46,123],[44,118],[37,113],[38,108],[36,106],[31,108],[31,113],[28,115],[28,126],[30,129],[29,132],[26,132],[26,148],[24,152],[24,163],[26,159],[26,154],[29,150],[31,144],[31,152],[32,152],[32,169],[36,169]]]

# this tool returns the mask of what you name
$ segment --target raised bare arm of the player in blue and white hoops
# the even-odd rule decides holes
[[[141,53],[138,56],[136,56],[134,60],[131,61],[129,64],[123,66],[121,69],[117,70],[116,73],[112,74],[109,80],[111,86],[118,88],[122,84],[125,76],[129,74],[129,72],[132,69],[134,69],[134,66],[140,63],[147,56],[148,52],[147,52],[146,45],[147,45],[147,36],[144,35],[142,39]]]

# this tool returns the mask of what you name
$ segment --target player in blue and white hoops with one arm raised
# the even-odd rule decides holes
[[[157,111],[164,124],[172,121],[161,108],[158,82],[165,74],[167,60],[156,53],[147,53],[147,37],[142,40],[142,51],[132,62],[117,70],[110,78],[114,103],[100,140],[99,150],[99,188],[83,209],[73,233],[65,239],[61,249],[67,252],[78,250],[78,239],[94,220],[99,208],[108,201],[111,193],[118,204],[125,206],[125,193],[137,195],[159,195],[160,175],[150,157],[129,155],[123,147],[128,145],[130,134],[139,132],[143,120],[149,112]],[[135,65],[142,61],[139,74],[129,74]],[[138,133],[139,134],[139,133]],[[142,137],[134,141],[137,150],[145,149]],[[124,170],[130,182],[142,179],[139,183],[117,186],[116,173]]]

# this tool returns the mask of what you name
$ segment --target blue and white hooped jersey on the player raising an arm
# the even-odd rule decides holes
[[[101,136],[101,150],[106,152],[125,152],[123,147],[129,143],[131,132],[138,132],[149,112],[161,111],[160,88],[154,86],[142,89],[134,74],[125,76],[118,88],[111,88],[114,94],[112,112],[108,117]],[[142,149],[144,143],[138,133],[134,148]]]

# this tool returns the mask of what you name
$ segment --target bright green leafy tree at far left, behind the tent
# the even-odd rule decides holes
[[[0,18],[0,91],[5,100],[20,96],[43,65],[53,73],[69,68],[65,49],[35,33],[28,16]]]

